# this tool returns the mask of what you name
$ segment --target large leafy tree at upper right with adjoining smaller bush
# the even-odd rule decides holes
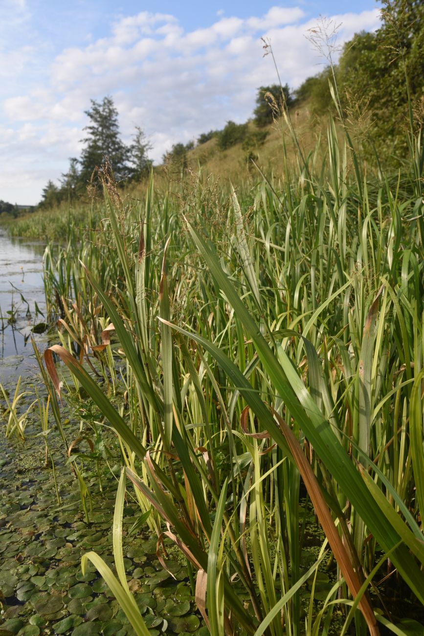
[[[381,17],[378,31],[362,31],[343,46],[334,74],[341,114],[367,158],[374,160],[377,149],[393,162],[406,155],[410,114],[414,112],[417,129],[424,121],[424,4],[387,1]],[[331,67],[306,79],[296,90],[296,106],[308,100],[314,114],[335,112],[330,83]]]

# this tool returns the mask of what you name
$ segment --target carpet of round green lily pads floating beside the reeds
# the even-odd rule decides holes
[[[113,567],[114,476],[102,476],[103,493],[93,497],[87,523],[71,466],[64,460],[59,466],[58,506],[43,440],[35,427],[28,431],[25,444],[0,435],[0,636],[130,636],[135,632],[97,570],[88,565],[81,572],[81,555],[90,550]],[[85,474],[89,487],[97,478]],[[136,519],[137,508],[127,506],[124,529]],[[185,564],[170,559],[169,571],[163,570],[155,537],[126,537],[124,556],[130,590],[152,636],[209,633],[195,611]]]

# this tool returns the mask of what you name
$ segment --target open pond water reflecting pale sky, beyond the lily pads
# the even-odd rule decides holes
[[[0,382],[28,375],[36,368],[31,335],[46,322],[41,242],[8,237],[0,228]],[[42,328],[42,326],[41,326]]]

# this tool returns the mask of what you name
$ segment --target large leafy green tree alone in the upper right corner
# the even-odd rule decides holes
[[[404,155],[408,100],[414,105],[423,99],[424,5],[409,0],[386,3],[382,17],[376,33],[362,32],[345,45],[338,83],[342,106],[352,111],[362,100],[371,114],[372,144],[381,152]]]

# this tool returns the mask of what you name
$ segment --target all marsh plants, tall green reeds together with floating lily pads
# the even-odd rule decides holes
[[[283,99],[280,178],[151,172],[137,197],[106,164],[44,217],[6,632],[423,633],[421,124],[406,99],[404,158],[369,165],[330,92],[312,148]]]

